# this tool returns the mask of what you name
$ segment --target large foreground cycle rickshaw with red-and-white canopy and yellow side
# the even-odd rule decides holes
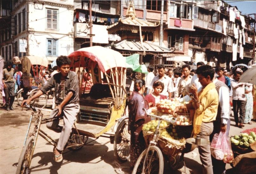
[[[99,46],[81,48],[68,57],[71,60],[71,71],[77,73],[80,83],[80,115],[77,116],[77,121],[74,123],[66,148],[75,151],[85,145],[92,146],[93,144],[89,143],[97,140],[100,136],[106,137],[110,140],[102,145],[108,142],[114,143],[114,153],[117,159],[121,162],[127,161],[130,153],[130,134],[128,134],[128,118],[123,116],[126,101],[125,58],[114,50]],[[91,72],[93,86],[88,92],[81,90],[81,84],[85,77],[84,74],[89,77],[89,72]],[[57,142],[41,130],[40,126],[55,119],[62,119],[60,116],[43,118],[41,111],[51,110],[26,106],[33,112],[19,157],[17,174],[30,171],[38,135],[53,146],[57,146]],[[32,117],[36,117],[36,121],[32,132],[30,132]],[[115,134],[107,133],[112,128]],[[94,139],[87,142],[88,137]]]

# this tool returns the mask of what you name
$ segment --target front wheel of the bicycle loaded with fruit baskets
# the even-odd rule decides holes
[[[135,163],[132,174],[163,174],[163,154],[157,146],[145,149]],[[145,160],[145,162],[144,162]]]

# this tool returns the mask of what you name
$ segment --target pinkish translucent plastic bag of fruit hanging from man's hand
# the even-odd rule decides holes
[[[219,134],[214,134],[211,141],[211,155],[223,160],[224,163],[232,163],[234,154],[231,149],[230,138],[226,136],[226,132],[220,131]]]

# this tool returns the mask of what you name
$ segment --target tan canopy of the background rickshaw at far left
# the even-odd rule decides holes
[[[27,71],[30,73],[31,65],[41,65],[44,67],[48,66],[48,60],[39,56],[24,56],[21,60],[22,72]]]

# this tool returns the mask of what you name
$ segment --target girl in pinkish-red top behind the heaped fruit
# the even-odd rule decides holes
[[[161,99],[166,99],[167,97],[164,95],[160,95],[160,93],[163,91],[164,84],[160,81],[156,81],[153,84],[154,91],[145,96],[145,100],[149,103],[149,107],[154,107],[156,103],[160,102]]]

